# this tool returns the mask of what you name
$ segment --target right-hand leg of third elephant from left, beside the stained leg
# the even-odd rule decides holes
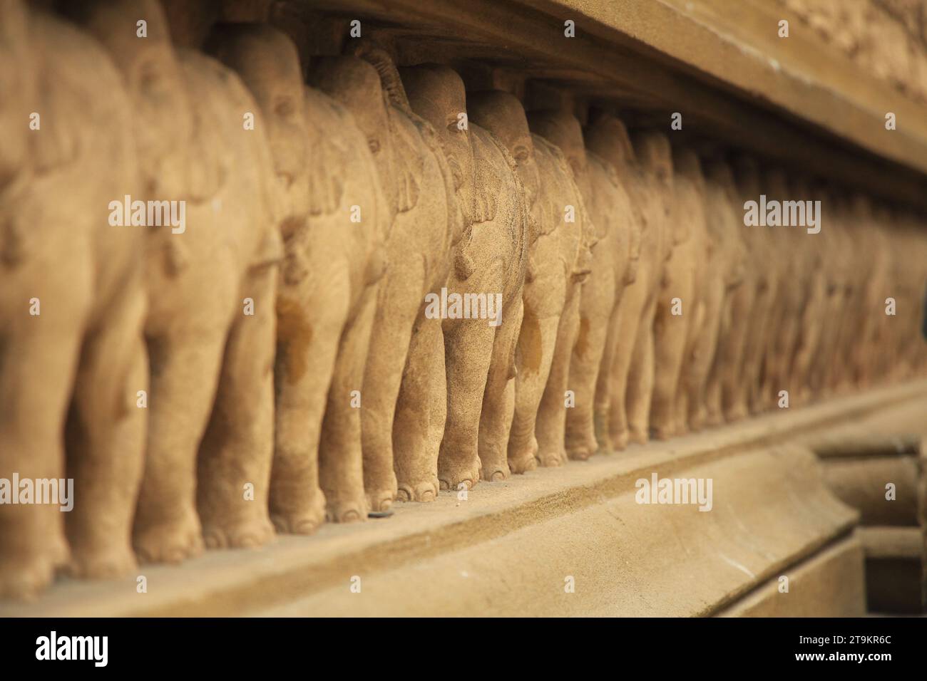
[[[378,286],[368,286],[338,345],[332,385],[328,388],[322,440],[319,446],[319,484],[325,495],[325,517],[335,523],[367,518],[363,489],[363,450],[360,408],[352,405],[363,385],[370,334],[374,326]],[[363,396],[361,395],[361,399]]]

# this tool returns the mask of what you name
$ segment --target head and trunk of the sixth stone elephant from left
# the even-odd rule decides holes
[[[527,205],[531,210],[531,233],[528,245],[535,242],[541,233],[550,231],[552,222],[540,216],[540,173],[534,156],[534,143],[528,130],[525,108],[517,97],[501,90],[486,90],[470,93],[467,107],[470,120],[492,132],[514,158],[515,171],[525,187]]]

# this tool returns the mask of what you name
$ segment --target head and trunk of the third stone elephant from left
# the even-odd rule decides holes
[[[313,186],[306,162],[310,132],[305,85],[296,46],[266,24],[220,24],[210,34],[206,50],[238,73],[260,107],[277,179],[281,229],[287,239],[310,212]],[[314,190],[319,187],[315,184]]]

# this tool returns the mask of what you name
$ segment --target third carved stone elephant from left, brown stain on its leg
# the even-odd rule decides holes
[[[286,257],[276,301],[275,447],[270,508],[281,532],[311,533],[324,517],[367,517],[362,456],[364,369],[385,244],[395,215],[372,142],[351,112],[302,83],[296,47],[266,26],[230,25],[209,47],[236,69],[268,120],[286,195]],[[375,70],[340,74],[383,107]],[[340,77],[337,76],[337,77]]]

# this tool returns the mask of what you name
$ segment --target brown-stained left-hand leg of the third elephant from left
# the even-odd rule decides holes
[[[280,533],[308,535],[325,519],[319,440],[338,339],[348,319],[348,290],[344,276],[318,295],[281,286],[277,296],[270,505]]]

